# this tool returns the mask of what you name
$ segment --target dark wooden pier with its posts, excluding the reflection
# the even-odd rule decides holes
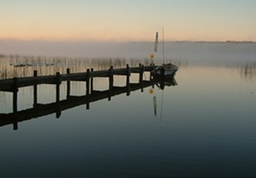
[[[151,71],[154,68],[154,65],[144,66],[139,65],[139,67],[130,68],[129,65],[126,65],[126,68],[116,68],[112,66],[108,70],[104,71],[94,71],[92,69],[87,69],[84,73],[75,73],[70,74],[69,68],[66,70],[66,74],[59,74],[56,72],[56,75],[49,76],[38,76],[37,71],[34,71],[33,77],[14,77],[13,79],[0,80],[0,91],[4,92],[13,92],[13,110],[17,112],[17,95],[19,88],[26,86],[34,86],[34,104],[37,104],[38,101],[38,89],[37,86],[40,84],[52,84],[56,85],[56,102],[59,101],[59,86],[63,81],[67,82],[67,96],[70,95],[71,81],[84,81],[86,82],[86,93],[90,94],[90,90],[93,89],[93,78],[94,77],[108,77],[109,79],[109,89],[113,87],[114,75],[125,75],[126,76],[126,85],[130,83],[130,74],[138,73],[139,81],[142,81],[143,74],[145,71]]]

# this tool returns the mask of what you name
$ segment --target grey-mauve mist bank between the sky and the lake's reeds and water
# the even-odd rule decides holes
[[[163,60],[160,42],[155,60]],[[0,41],[0,53],[32,56],[148,59],[153,42],[93,41]],[[165,42],[166,59],[195,65],[236,66],[256,61],[256,43],[250,42]]]

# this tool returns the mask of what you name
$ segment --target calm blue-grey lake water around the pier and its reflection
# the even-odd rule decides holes
[[[241,68],[186,65],[177,86],[123,93],[90,110],[82,104],[59,119],[19,122],[16,131],[3,125],[1,177],[255,177],[255,79]],[[94,87],[107,89],[108,80]],[[54,102],[54,89],[40,86],[38,103]],[[18,110],[32,107],[32,93],[20,89]],[[72,83],[72,95],[84,94],[84,83]],[[1,113],[12,112],[12,95],[0,99]]]

